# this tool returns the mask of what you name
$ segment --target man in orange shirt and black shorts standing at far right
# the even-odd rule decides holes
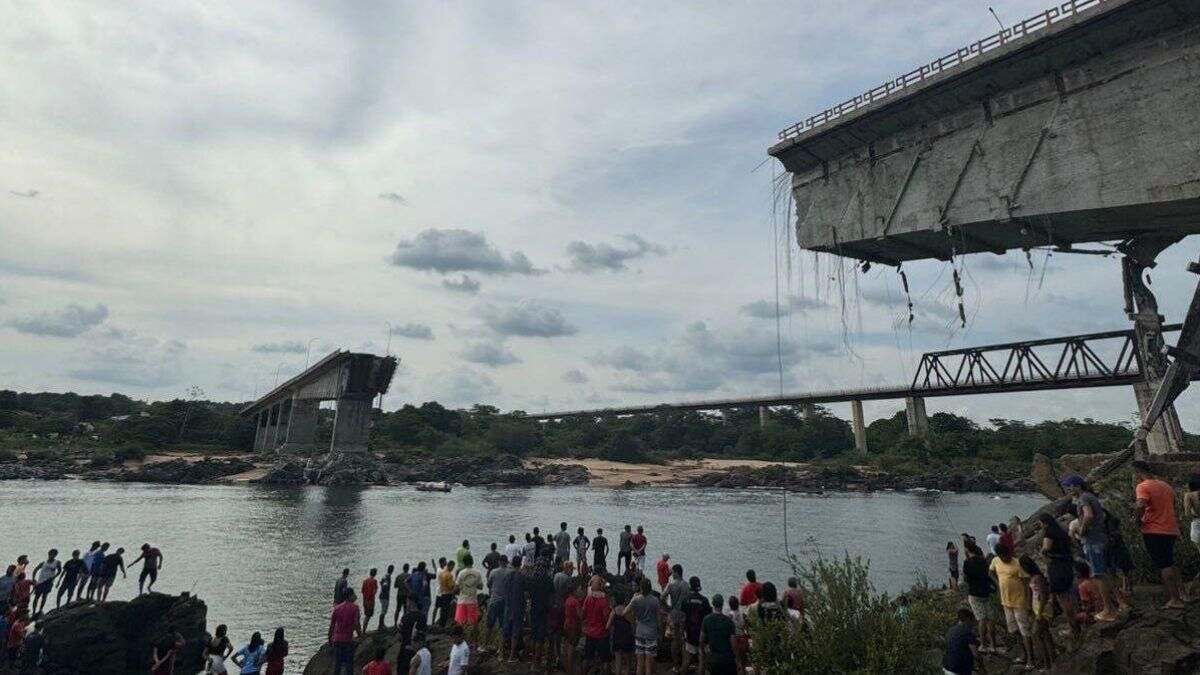
[[[1180,536],[1180,526],[1175,521],[1175,490],[1156,478],[1148,464],[1139,460],[1129,466],[1134,473],[1134,496],[1138,500],[1134,513],[1141,527],[1141,538],[1166,589],[1164,608],[1183,609],[1180,572],[1175,568],[1175,539]]]

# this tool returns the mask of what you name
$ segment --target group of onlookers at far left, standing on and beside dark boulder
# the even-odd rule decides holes
[[[140,554],[130,562],[131,567],[142,563],[138,595],[154,590],[162,560],[162,551],[142,544]],[[32,569],[29,555],[17,556],[0,577],[0,663],[36,667],[44,641],[37,620],[46,613],[50,596],[55,608],[73,601],[104,602],[116,573],[126,578],[125,567],[125,549],[113,549],[108,542],[92,542],[86,552],[76,549],[66,561],[58,549],[50,549]]]

